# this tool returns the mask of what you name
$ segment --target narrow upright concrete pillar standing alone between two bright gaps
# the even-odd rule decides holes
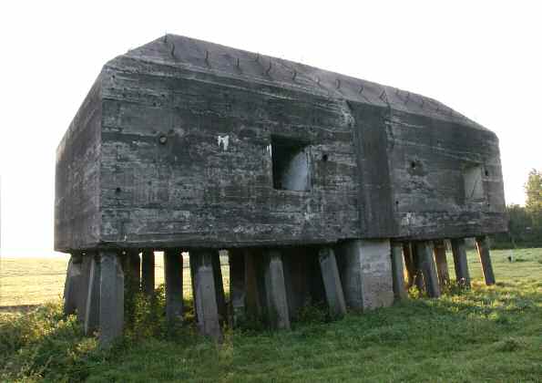
[[[170,324],[182,321],[182,254],[179,249],[164,252],[166,318]]]

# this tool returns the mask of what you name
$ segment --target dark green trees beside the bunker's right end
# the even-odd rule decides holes
[[[525,206],[506,206],[510,217],[508,233],[494,236],[494,247],[541,247],[542,246],[542,171],[529,172],[525,184]]]

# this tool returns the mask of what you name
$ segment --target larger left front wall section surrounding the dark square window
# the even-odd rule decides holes
[[[354,121],[344,101],[138,60],[106,72],[105,243],[231,247],[360,236]],[[275,136],[306,151],[308,191],[273,187]]]

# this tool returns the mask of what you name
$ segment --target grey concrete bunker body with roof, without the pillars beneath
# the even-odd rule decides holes
[[[281,167],[289,191],[274,187],[277,138],[296,143]],[[55,217],[65,252],[506,231],[498,140],[474,121],[404,90],[171,35],[102,69],[57,149]]]

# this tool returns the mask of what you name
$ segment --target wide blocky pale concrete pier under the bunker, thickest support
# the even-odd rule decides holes
[[[346,305],[369,310],[394,303],[389,240],[351,240],[337,248]]]

